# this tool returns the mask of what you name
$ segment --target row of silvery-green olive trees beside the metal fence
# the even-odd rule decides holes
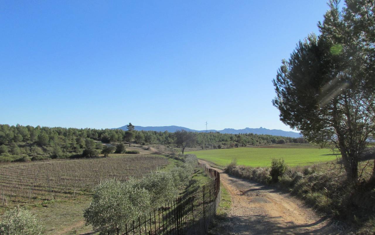
[[[198,160],[186,154],[184,163],[170,172],[156,171],[141,179],[103,181],[95,188],[90,206],[84,210],[87,224],[102,234],[122,234],[125,225],[177,198],[189,183]]]

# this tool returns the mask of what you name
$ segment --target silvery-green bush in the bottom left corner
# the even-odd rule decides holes
[[[21,207],[6,211],[1,216],[1,235],[40,235],[45,231],[42,222]]]

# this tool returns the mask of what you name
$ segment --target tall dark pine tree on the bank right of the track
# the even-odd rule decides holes
[[[297,44],[273,80],[280,120],[309,142],[342,156],[347,178],[359,180],[359,160],[374,133],[374,2],[330,1],[321,35]]]

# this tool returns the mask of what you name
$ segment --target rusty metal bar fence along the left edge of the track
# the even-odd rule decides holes
[[[210,183],[127,224],[122,235],[205,234],[219,206],[220,174],[204,164],[201,167],[212,178]]]

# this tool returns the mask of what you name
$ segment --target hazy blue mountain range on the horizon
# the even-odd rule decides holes
[[[122,130],[127,130],[126,125],[114,129],[122,129]],[[186,127],[182,126],[135,126],[135,130],[152,130],[152,131],[157,131],[157,132],[165,132],[166,130],[168,132],[175,132],[177,130],[186,130],[188,132],[206,132],[206,130],[192,130]],[[264,134],[264,135],[278,135],[278,136],[287,136],[287,137],[293,137],[293,138],[298,138],[302,137],[300,133],[297,132],[287,132],[284,130],[275,130],[275,129],[266,129],[263,127],[260,128],[249,128],[246,127],[245,129],[232,129],[232,128],[225,128],[223,130],[207,130],[207,132],[220,132],[224,134],[245,134],[245,133],[254,133],[254,134]]]

